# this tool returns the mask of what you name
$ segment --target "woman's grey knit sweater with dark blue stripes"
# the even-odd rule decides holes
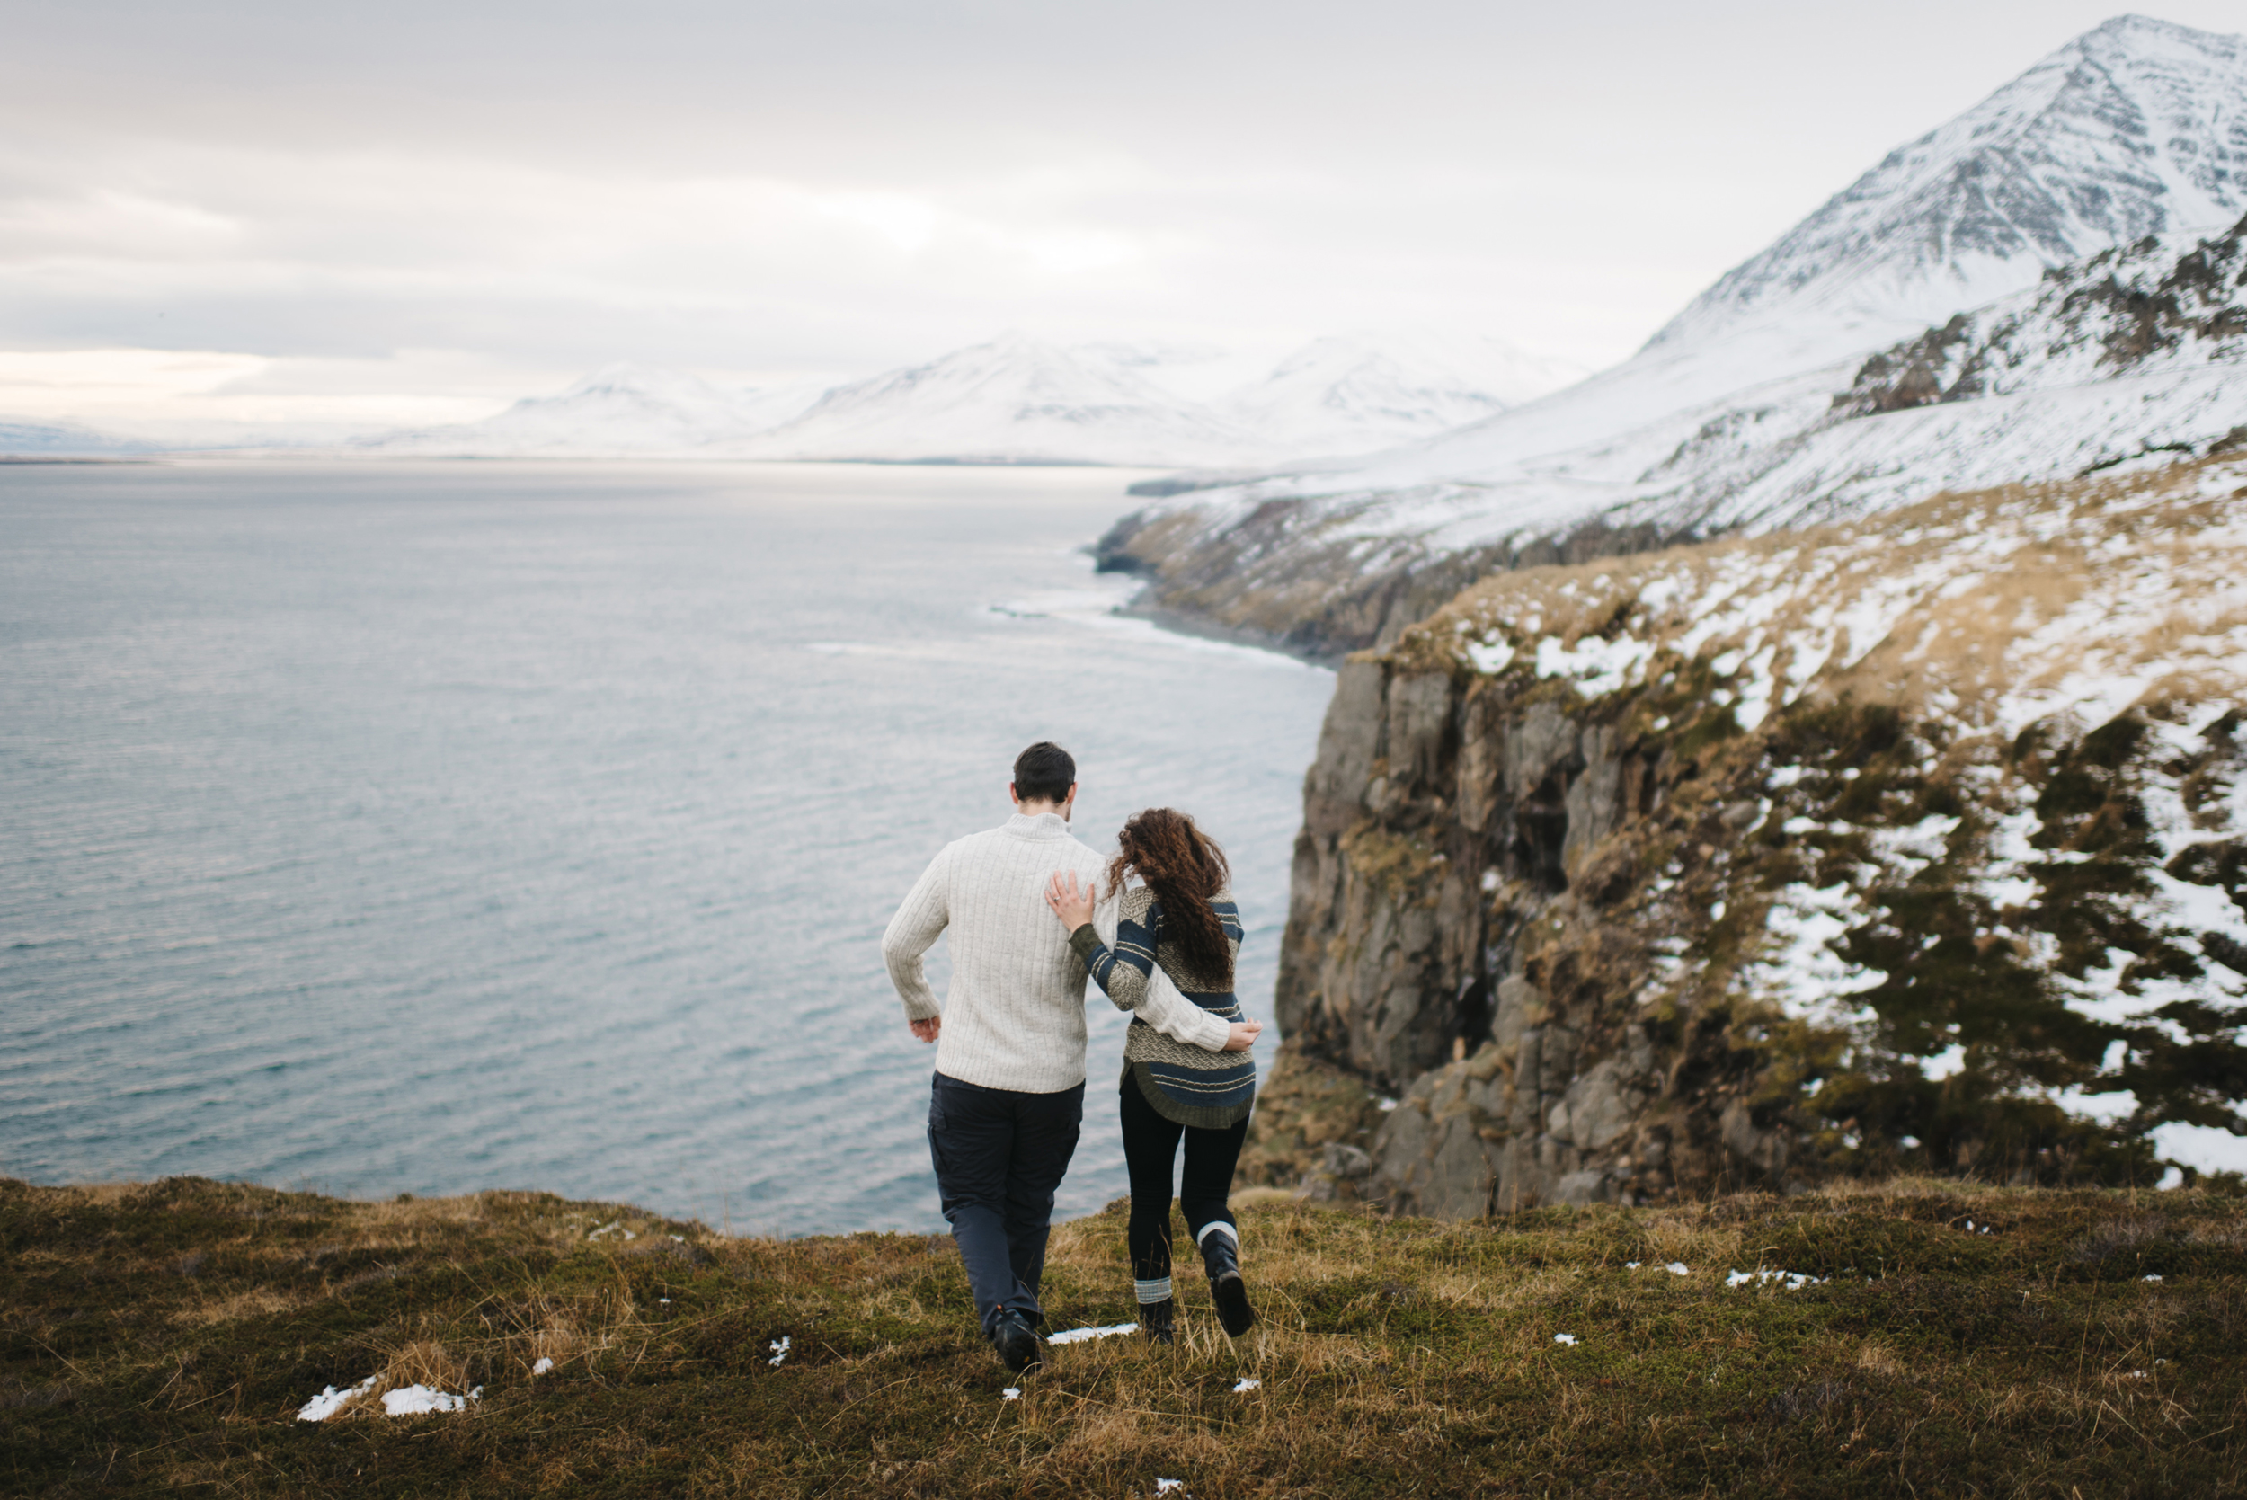
[[[1225,925],[1229,959],[1240,957],[1240,907],[1229,889],[1209,903]],[[1231,1026],[1240,1019],[1240,1001],[1227,988],[1227,975],[1198,972],[1164,932],[1162,903],[1144,885],[1124,891],[1117,907],[1115,945],[1101,941],[1092,923],[1070,934],[1070,948],[1085,961],[1085,972],[1108,993],[1119,1010],[1141,1010],[1155,968],[1175,984],[1209,1019]],[[1222,1037],[1218,1037],[1222,1046]],[[1249,1116],[1256,1103],[1256,1062],[1249,1053],[1191,1046],[1135,1015],[1124,1033],[1124,1087],[1137,1085],[1146,1103],[1168,1121],[1200,1129],[1229,1129]]]

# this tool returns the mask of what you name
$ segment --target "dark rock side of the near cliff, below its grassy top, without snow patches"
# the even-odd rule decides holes
[[[2007,923],[2040,932],[2047,961],[2067,972],[2119,950],[2146,977],[2198,975],[2200,954],[2247,977],[2247,945],[2132,916],[2164,858],[2135,811],[2139,788],[2157,777],[2186,804],[2202,784],[2222,797],[2238,766],[2229,721],[2184,761],[2164,759],[2173,752],[2139,716],[2072,737],[2031,728],[2002,766],[1989,746],[1973,752],[2013,786],[2009,802],[1973,811],[1962,797],[1995,797],[1998,781],[1957,775],[1966,761],[1921,739],[1944,737],[1939,725],[1881,705],[1807,705],[1755,734],[1712,734],[1692,703],[1708,683],[1705,665],[1679,662],[1643,692],[1586,701],[1562,680],[1447,669],[1411,644],[1341,667],[1303,784],[1276,988],[1288,1051],[1274,1078],[1301,1089],[1292,1080],[1314,1076],[1330,1094],[1348,1078],[1366,1094],[1335,1114],[1332,1134],[1301,1107],[1267,1103],[1247,1181],[1476,1217],[1726,1186],[1800,1190],[1901,1163],[1856,1132],[1910,1138],[1926,1165],[2058,1181],[2148,1159],[2128,1132],[2101,1136],[2036,1094],[2090,1080],[2112,1040],[2144,1049],[2130,1087],[2146,1098],[2166,1087],[2148,1082],[2162,1069],[2180,1100],[2238,1091],[2222,1082],[2236,1049],[2218,1058],[2144,1026],[2101,1031],[2016,941],[1973,936]],[[1791,835],[1786,813],[1766,817],[1775,804],[1813,811],[1795,822],[1820,833]],[[1867,1033],[1845,1064],[1840,1033],[1741,995],[1730,975],[1750,950],[1746,930],[1721,921],[1728,907],[1759,930],[1780,885],[1883,880],[1865,831],[1957,813],[1975,826],[2034,813],[2029,842],[2049,851],[2034,865],[2045,903],[1993,912],[1975,894],[1984,856],[1971,842],[1941,856],[1962,860],[1955,869],[1939,862],[1910,889],[1878,889],[1872,918],[1834,952],[1876,984],[1865,1004],[1881,1010],[1885,1042]],[[2168,874],[2236,889],[2240,865],[2234,840],[2211,840]],[[1681,968],[1672,954],[1692,954],[1683,968],[1701,977],[1656,984]],[[2211,1010],[2193,1024],[2229,1022]],[[1977,1037],[1984,1055],[1962,1082],[1937,1085],[1917,1058],[1950,1035]],[[1398,1100],[1368,1114],[1371,1091]]]

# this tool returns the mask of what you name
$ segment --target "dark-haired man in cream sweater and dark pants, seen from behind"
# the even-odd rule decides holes
[[[1040,1363],[1038,1280],[1054,1188],[1085,1114],[1085,966],[1045,909],[1045,882],[1106,865],[1070,835],[1076,761],[1038,741],[1013,761],[1013,817],[928,865],[881,934],[906,1019],[937,1044],[928,1154],[984,1338],[1007,1370]],[[921,954],[950,930],[939,1008]]]

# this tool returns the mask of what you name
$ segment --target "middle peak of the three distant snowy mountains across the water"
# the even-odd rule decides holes
[[[793,422],[730,451],[742,458],[888,463],[1240,463],[1254,433],[1115,364],[1018,332],[836,386]]]

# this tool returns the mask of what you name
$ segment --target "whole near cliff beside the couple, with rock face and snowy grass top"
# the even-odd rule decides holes
[[[2240,478],[1501,575],[1348,660],[1252,1179],[1470,1217],[2211,1165],[2247,1129],[2247,683],[2207,644],[2247,640]]]

